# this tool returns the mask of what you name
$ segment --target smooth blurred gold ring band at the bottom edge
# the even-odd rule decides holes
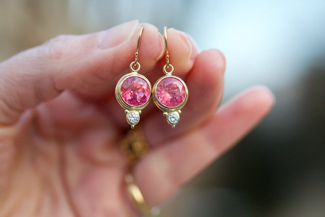
[[[158,207],[150,209],[146,204],[138,185],[134,182],[132,174],[125,175],[125,182],[129,200],[141,211],[143,216],[150,217],[159,214],[160,209]]]

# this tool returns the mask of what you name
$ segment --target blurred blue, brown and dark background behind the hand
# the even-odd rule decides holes
[[[277,100],[159,216],[325,216],[325,1],[0,0],[0,61],[134,19],[222,50],[223,101],[254,84]]]

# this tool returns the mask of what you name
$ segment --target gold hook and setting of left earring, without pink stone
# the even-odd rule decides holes
[[[147,102],[145,102],[144,104],[142,104],[140,106],[129,105],[123,100],[123,98],[121,96],[121,86],[122,86],[123,81],[129,77],[140,77],[140,78],[144,79],[149,84],[150,92],[152,91],[150,81],[145,76],[138,74],[138,72],[141,68],[140,63],[138,62],[138,55],[139,55],[139,46],[140,46],[140,39],[141,39],[142,32],[143,32],[143,26],[141,26],[140,32],[139,32],[137,51],[135,53],[135,56],[136,56],[135,60],[129,66],[131,73],[128,73],[128,74],[122,76],[120,78],[120,80],[117,82],[116,87],[115,87],[115,97],[116,97],[118,103],[125,109],[124,111],[126,113],[126,121],[127,121],[127,123],[129,123],[129,125],[131,125],[132,129],[139,122],[141,110],[148,105],[148,103],[150,102],[150,99],[151,99],[151,95],[150,95],[149,99],[147,100]],[[130,115],[131,113],[136,113],[139,115],[139,120],[136,123],[132,123],[129,121],[128,115]]]

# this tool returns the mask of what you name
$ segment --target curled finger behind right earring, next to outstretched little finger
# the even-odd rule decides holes
[[[207,50],[200,53],[185,79],[189,96],[182,109],[180,122],[172,129],[163,112],[156,108],[143,126],[148,142],[156,146],[199,126],[207,117],[212,116],[222,98],[224,70],[225,58],[221,51]]]

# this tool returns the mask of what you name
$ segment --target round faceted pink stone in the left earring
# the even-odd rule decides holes
[[[150,86],[138,76],[126,78],[121,86],[121,95],[125,103],[131,106],[141,106],[150,97]]]

